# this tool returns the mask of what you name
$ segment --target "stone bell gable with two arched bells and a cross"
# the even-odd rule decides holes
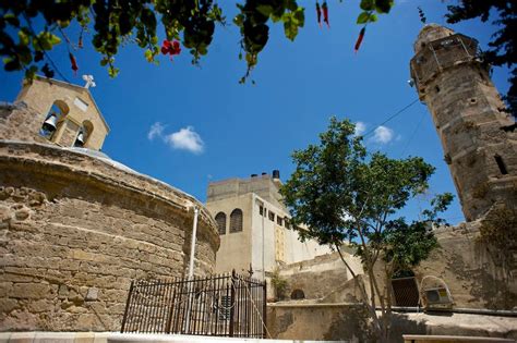
[[[36,76],[25,82],[12,105],[0,107],[0,139],[31,140],[65,148],[100,150],[109,133],[86,85]]]

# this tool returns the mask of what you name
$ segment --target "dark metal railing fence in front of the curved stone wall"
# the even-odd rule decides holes
[[[121,332],[265,338],[266,282],[232,273],[133,281]]]

